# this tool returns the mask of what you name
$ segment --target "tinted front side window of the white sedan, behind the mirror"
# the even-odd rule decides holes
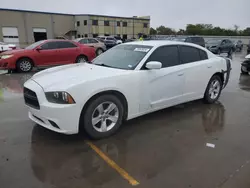
[[[147,62],[149,61],[161,62],[162,68],[179,65],[180,61],[179,61],[178,47],[177,46],[159,47],[148,58]]]

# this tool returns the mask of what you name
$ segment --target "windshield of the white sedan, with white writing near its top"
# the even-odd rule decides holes
[[[118,69],[133,70],[152,49],[145,45],[119,45],[93,60],[93,64]]]

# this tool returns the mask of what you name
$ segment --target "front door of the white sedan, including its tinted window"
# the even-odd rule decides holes
[[[159,70],[142,70],[145,74],[146,93],[141,93],[141,111],[152,111],[179,104],[184,88],[184,74],[179,61],[178,46],[156,49],[149,61],[159,61]],[[144,68],[143,68],[144,69]],[[146,102],[147,101],[147,102]]]

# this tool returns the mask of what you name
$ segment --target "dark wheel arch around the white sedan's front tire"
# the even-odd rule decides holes
[[[87,110],[88,106],[90,105],[90,103],[93,100],[95,100],[96,98],[98,98],[102,95],[114,95],[114,96],[116,96],[122,102],[122,105],[124,107],[123,120],[127,119],[127,117],[128,117],[128,101],[127,101],[127,98],[125,97],[125,95],[118,90],[105,90],[105,91],[101,91],[101,92],[98,92],[98,93],[92,95],[84,104],[82,111],[81,111],[81,114],[80,114],[80,119],[79,119],[79,130],[81,129],[81,124],[83,122],[84,113]]]

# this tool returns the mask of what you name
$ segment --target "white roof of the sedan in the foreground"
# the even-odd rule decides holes
[[[145,45],[145,46],[153,46],[153,47],[158,47],[158,46],[164,46],[164,45],[185,45],[185,46],[193,46],[193,47],[198,47],[201,48],[201,46],[193,43],[187,43],[187,42],[179,42],[179,41],[171,41],[171,40],[148,40],[148,41],[133,41],[129,43],[125,43],[122,45],[127,45],[127,44],[134,44],[134,45]]]

